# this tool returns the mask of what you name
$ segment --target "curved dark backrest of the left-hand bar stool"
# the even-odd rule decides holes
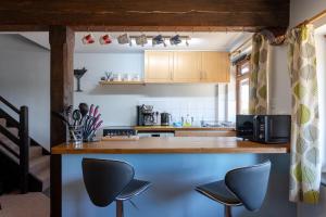
[[[83,177],[87,193],[97,206],[108,206],[134,179],[133,166],[111,159],[83,158]]]

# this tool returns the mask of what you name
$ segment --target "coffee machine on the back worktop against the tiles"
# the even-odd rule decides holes
[[[159,112],[153,111],[153,105],[137,105],[137,125],[153,126],[158,123]]]

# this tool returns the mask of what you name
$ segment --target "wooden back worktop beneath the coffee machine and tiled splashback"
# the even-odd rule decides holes
[[[177,130],[217,130],[217,131],[235,131],[234,127],[174,127],[174,126],[135,126],[135,130],[138,131],[177,131]]]

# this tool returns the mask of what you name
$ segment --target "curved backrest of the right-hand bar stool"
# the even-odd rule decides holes
[[[242,202],[243,206],[251,212],[262,206],[269,180],[271,162],[237,168],[225,176],[227,188]]]

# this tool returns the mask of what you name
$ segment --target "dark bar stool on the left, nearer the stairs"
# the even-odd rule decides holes
[[[149,181],[134,179],[131,165],[111,159],[83,158],[83,178],[87,193],[96,206],[116,202],[116,217],[124,216],[123,202],[150,187]]]

